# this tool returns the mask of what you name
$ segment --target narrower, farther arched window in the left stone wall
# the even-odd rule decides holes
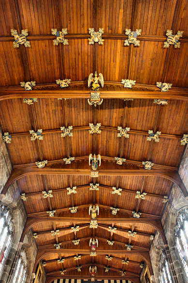
[[[27,276],[27,255],[25,250],[21,250],[15,266],[13,283],[25,283]]]

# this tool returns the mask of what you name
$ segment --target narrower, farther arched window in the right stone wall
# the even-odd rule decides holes
[[[163,252],[160,255],[159,271],[161,283],[173,283],[169,264],[166,259],[166,254]]]

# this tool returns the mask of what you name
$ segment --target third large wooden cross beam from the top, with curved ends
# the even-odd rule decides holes
[[[20,242],[24,241],[24,237],[26,233],[31,229],[34,225],[39,224],[41,222],[75,222],[75,223],[90,223],[90,218],[86,217],[28,217],[25,223],[24,230],[22,232]],[[161,221],[159,219],[152,219],[152,218],[118,218],[114,217],[104,217],[104,218],[97,218],[98,224],[105,224],[105,223],[144,223],[152,226],[157,231],[159,231],[164,244],[167,243],[166,236],[163,231],[163,227]]]

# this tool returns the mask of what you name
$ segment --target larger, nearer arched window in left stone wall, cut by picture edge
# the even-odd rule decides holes
[[[0,275],[11,248],[13,219],[10,210],[0,205]]]

